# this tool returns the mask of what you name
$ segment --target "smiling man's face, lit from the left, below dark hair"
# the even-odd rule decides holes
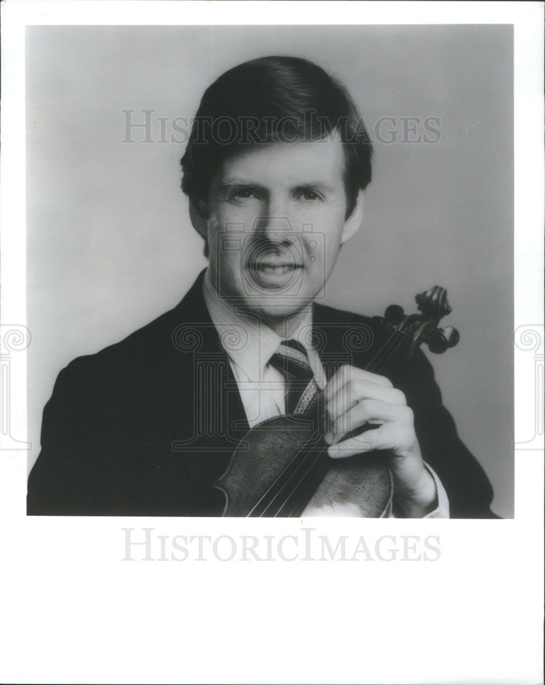
[[[359,228],[361,197],[345,221],[343,171],[339,140],[277,142],[224,162],[201,227],[224,299],[277,332],[296,321]]]

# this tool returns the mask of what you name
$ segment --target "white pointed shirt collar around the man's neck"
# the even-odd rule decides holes
[[[242,314],[218,295],[207,269],[203,279],[203,296],[210,318],[220,336],[220,345],[229,359],[237,364],[249,380],[262,379],[266,365],[282,340],[257,316]],[[312,349],[312,307],[289,338],[298,340],[308,351]]]

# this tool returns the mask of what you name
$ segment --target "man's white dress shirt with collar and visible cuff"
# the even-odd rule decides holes
[[[312,306],[307,308],[303,320],[290,336],[281,338],[257,316],[242,314],[229,306],[212,286],[208,271],[203,279],[203,295],[220,344],[229,357],[250,427],[286,412],[285,379],[268,363],[282,340],[294,339],[303,345],[316,384],[320,390],[325,388],[325,370],[318,352],[312,347]],[[431,466],[425,462],[424,465],[431,473],[438,493],[437,508],[424,518],[448,519],[448,497],[444,487]]]

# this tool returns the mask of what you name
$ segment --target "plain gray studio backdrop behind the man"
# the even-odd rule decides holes
[[[205,266],[173,119],[193,116],[220,73],[267,54],[340,77],[381,134],[364,224],[326,302],[382,314],[393,302],[414,310],[415,292],[434,284],[448,289],[461,343],[430,356],[492,480],[494,510],[512,516],[513,53],[503,25],[29,27],[29,466],[58,371],[172,308]],[[129,116],[149,116],[151,142],[127,130]],[[409,132],[403,117],[418,118],[405,119]],[[419,141],[429,117],[440,140]]]

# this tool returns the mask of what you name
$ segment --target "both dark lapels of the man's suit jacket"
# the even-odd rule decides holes
[[[203,275],[157,324],[153,353],[156,397],[167,423],[164,448],[183,459],[195,486],[210,488],[249,425],[229,358],[205,305]],[[313,321],[316,347],[329,379],[342,364],[355,363],[355,343],[368,329],[319,305],[314,306]]]

